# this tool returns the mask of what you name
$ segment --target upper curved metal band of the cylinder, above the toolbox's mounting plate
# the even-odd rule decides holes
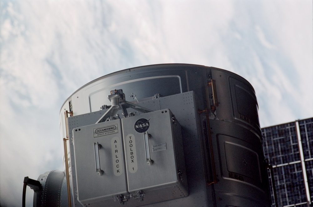
[[[236,92],[234,86],[238,85],[248,92],[246,94],[252,95],[248,102],[239,103],[239,111],[242,106],[257,104],[253,87],[239,75],[220,68],[192,64],[159,64],[129,68],[87,83],[78,89],[68,100],[72,100],[74,115],[79,115],[98,110],[98,107],[101,106],[100,104],[110,104],[106,96],[110,90],[115,88],[125,90],[127,101],[143,101],[156,93],[170,96],[193,90],[195,91],[195,96],[199,99],[199,107],[210,110],[212,92],[210,89],[208,90],[210,79],[216,82],[215,93],[217,93],[218,98],[216,115],[218,118],[232,120],[238,124],[249,125],[249,127],[253,126],[254,130],[260,134],[259,123],[256,121],[258,114],[255,111],[255,107],[253,113],[246,114],[248,116],[245,116],[243,113],[244,117],[239,115],[240,113],[237,109],[233,109],[233,106],[236,108],[238,106],[235,103]],[[236,80],[236,83],[231,81],[231,79]],[[68,105],[68,103],[65,103],[65,105]],[[62,111],[66,108],[65,105],[62,107]],[[234,116],[233,114],[238,114],[239,116]],[[246,118],[255,122],[248,123]]]

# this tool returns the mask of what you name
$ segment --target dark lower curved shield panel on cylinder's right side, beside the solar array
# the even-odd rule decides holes
[[[221,198],[217,199],[217,206],[270,206],[259,137],[229,121],[210,119],[210,126],[219,178],[214,189]]]

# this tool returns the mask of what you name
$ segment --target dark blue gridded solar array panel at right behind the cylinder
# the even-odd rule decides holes
[[[273,165],[279,206],[306,207],[308,198],[305,180],[308,182],[310,200],[313,201],[313,118],[297,121],[304,159],[301,160],[296,122],[262,129],[265,158]],[[306,179],[302,164],[305,165]],[[269,182],[272,188],[269,172]],[[275,206],[273,190],[272,205]]]

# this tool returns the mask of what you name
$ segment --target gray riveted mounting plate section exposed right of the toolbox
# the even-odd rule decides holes
[[[159,206],[213,206],[213,188],[206,185],[205,158],[195,93],[190,91],[137,104],[148,109],[170,109],[182,128],[189,195],[160,202]]]

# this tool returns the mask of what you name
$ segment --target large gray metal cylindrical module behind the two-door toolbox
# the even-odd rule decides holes
[[[72,206],[83,206],[77,196],[82,191],[77,189],[80,180],[76,179],[72,130],[96,124],[95,120],[110,108],[108,95],[115,89],[122,89],[127,102],[151,111],[169,109],[175,115],[181,126],[186,166],[188,195],[164,201],[156,199],[157,203],[151,203],[153,199],[145,203],[144,198],[141,202],[127,203],[128,206],[270,206],[268,172],[253,87],[235,73],[192,64],[148,65],[111,73],[79,88],[64,102],[60,130],[62,138],[69,137]],[[130,119],[122,117],[122,112],[118,112],[121,124],[131,123],[123,121]],[[127,112],[128,116],[133,112],[135,116],[144,114],[133,108]],[[122,129],[126,130],[125,126]],[[160,146],[164,147],[164,143]],[[127,182],[126,186],[131,185]],[[107,187],[104,183],[103,188]],[[146,200],[149,200],[148,194]],[[90,201],[91,206],[100,205],[100,201],[94,201],[96,199]]]

